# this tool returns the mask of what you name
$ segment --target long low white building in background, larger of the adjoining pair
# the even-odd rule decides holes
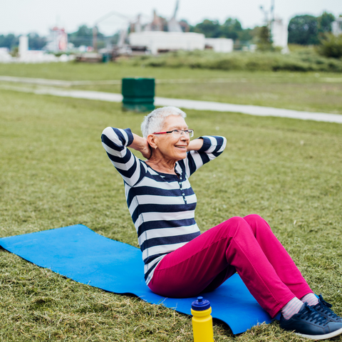
[[[172,50],[204,50],[205,37],[194,32],[142,31],[128,36],[131,46],[146,46],[151,53]]]

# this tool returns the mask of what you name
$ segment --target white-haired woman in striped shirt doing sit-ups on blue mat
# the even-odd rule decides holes
[[[271,317],[281,311],[286,330],[314,339],[342,333],[341,318],[317,299],[264,219],[232,217],[199,232],[189,177],[223,152],[226,139],[190,141],[194,131],[185,117],[174,107],[153,110],[142,122],[143,138],[129,128],[103,130],[103,147],[124,180],[147,286],[161,296],[191,297],[216,289],[237,272]]]

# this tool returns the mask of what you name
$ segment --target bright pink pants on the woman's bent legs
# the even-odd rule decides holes
[[[167,254],[148,286],[161,296],[192,297],[236,271],[271,317],[295,296],[312,293],[269,224],[255,214],[232,217]]]

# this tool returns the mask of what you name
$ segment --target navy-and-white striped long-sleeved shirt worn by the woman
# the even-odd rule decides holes
[[[201,138],[201,149],[187,152],[184,160],[176,162],[177,175],[170,175],[153,170],[130,152],[127,146],[133,142],[133,134],[129,128],[103,130],[103,147],[124,180],[128,209],[145,263],[146,284],[162,257],[200,234],[195,222],[197,199],[188,178],[219,156],[226,145],[224,137]]]

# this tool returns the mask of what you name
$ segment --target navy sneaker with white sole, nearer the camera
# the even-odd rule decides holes
[[[312,340],[324,340],[342,333],[342,323],[328,320],[307,303],[304,303],[298,314],[287,320],[281,315],[279,323],[281,328]]]

